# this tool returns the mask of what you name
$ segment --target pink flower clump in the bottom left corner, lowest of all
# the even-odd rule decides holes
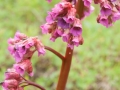
[[[14,68],[8,69],[5,73],[5,80],[2,82],[3,90],[23,90],[23,87],[19,86],[22,80]]]

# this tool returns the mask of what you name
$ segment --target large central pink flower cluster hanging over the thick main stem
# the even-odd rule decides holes
[[[62,1],[55,5],[46,18],[47,23],[41,26],[44,34],[50,33],[50,40],[55,41],[62,37],[70,48],[83,43],[82,25],[76,18],[75,6],[70,2]]]

